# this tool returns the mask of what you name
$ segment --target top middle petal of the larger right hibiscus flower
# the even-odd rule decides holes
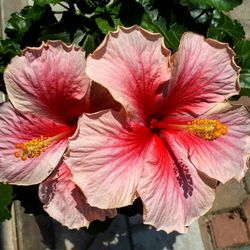
[[[159,34],[138,26],[120,28],[88,57],[86,73],[145,122],[156,110],[157,91],[170,78],[169,55]]]

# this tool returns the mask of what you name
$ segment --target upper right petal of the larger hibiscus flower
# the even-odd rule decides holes
[[[172,58],[172,78],[167,89],[169,114],[200,115],[217,102],[239,93],[239,67],[228,44],[184,33]]]

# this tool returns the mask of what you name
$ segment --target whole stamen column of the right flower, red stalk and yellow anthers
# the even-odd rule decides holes
[[[190,134],[193,134],[201,139],[207,141],[213,141],[219,137],[226,135],[228,132],[228,126],[222,124],[219,120],[209,119],[194,119],[189,121],[187,124],[168,124],[165,122],[157,121],[152,119],[150,123],[151,129],[180,129],[186,130]]]

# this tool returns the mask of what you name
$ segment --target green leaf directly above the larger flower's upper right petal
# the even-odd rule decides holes
[[[221,42],[231,42],[235,44],[239,40],[244,39],[245,32],[237,20],[232,20],[223,13],[214,11],[207,36]]]

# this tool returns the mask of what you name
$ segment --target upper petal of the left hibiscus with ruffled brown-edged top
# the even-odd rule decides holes
[[[15,108],[60,122],[82,113],[82,98],[89,86],[84,52],[61,41],[23,50],[7,66],[4,80]]]

